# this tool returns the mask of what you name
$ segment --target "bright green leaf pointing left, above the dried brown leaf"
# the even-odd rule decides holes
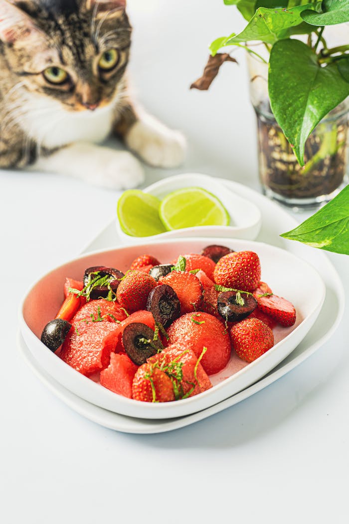
[[[310,7],[320,9],[321,2],[300,5],[292,9],[259,7],[245,29],[239,35],[234,35],[228,39],[225,45],[253,40],[275,43],[277,40],[292,34],[291,28],[302,23],[301,13]]]

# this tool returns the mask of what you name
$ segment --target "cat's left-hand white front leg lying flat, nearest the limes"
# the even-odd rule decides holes
[[[75,143],[40,157],[32,170],[67,174],[93,185],[122,190],[144,180],[143,168],[128,151]]]

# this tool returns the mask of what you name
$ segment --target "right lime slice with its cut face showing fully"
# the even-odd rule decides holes
[[[230,216],[217,196],[201,188],[169,193],[160,204],[160,218],[167,230],[195,226],[226,226]]]

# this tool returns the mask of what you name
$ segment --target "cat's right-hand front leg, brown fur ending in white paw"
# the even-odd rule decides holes
[[[184,162],[184,135],[169,129],[142,109],[123,107],[114,126],[115,133],[142,160],[154,167],[174,168]]]

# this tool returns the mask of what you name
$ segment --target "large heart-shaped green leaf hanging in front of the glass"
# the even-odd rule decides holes
[[[303,166],[308,136],[349,95],[349,84],[335,63],[321,67],[309,46],[287,39],[272,48],[268,86],[276,121]]]

